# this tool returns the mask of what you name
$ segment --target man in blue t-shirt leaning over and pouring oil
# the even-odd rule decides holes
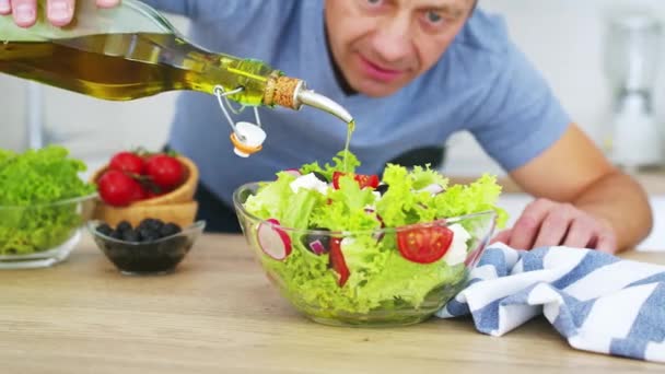
[[[13,9],[16,23],[30,26],[34,1],[0,0],[0,13]],[[497,237],[513,247],[614,253],[651,230],[640,186],[607,162],[510,42],[501,20],[475,10],[475,0],[145,2],[189,16],[189,37],[202,47],[265,60],[349,109],[358,122],[351,150],[362,173],[380,173],[399,154],[470,131],[536,197]],[[65,25],[73,0],[50,0],[47,9],[54,24]],[[219,230],[235,223],[229,208],[235,187],[328,160],[346,135],[337,119],[319,113],[262,110],[265,148],[240,160],[223,140],[229,130],[219,116],[209,96],[184,93],[170,139],[200,166],[201,194],[208,195],[200,196],[208,199],[201,209]]]

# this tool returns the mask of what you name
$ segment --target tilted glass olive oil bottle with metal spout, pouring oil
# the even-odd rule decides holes
[[[0,16],[0,72],[113,101],[173,90],[214,94],[222,86],[243,106],[299,110],[307,105],[347,125],[348,153],[354,121],[342,106],[264,61],[195,46],[142,2],[124,0],[101,9],[94,1],[79,1],[66,27],[45,19],[46,0],[38,5],[39,19],[28,28],[15,25],[11,14]]]

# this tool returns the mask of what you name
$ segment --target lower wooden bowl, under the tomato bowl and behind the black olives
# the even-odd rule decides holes
[[[144,219],[152,218],[166,223],[177,223],[180,227],[185,227],[194,223],[197,210],[198,202],[195,200],[160,206],[132,204],[122,208],[112,207],[98,201],[93,218],[106,222],[110,226],[116,226],[120,221],[128,221],[136,227]]]

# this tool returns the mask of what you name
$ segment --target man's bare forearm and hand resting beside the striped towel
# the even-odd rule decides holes
[[[638,151],[638,150],[635,150]],[[537,200],[499,238],[517,248],[559,243],[617,252],[651,231],[644,190],[571,125],[542,154],[511,173]]]

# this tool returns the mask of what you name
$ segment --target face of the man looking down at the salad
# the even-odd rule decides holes
[[[441,58],[475,0],[326,0],[332,58],[368,96],[395,93]]]

